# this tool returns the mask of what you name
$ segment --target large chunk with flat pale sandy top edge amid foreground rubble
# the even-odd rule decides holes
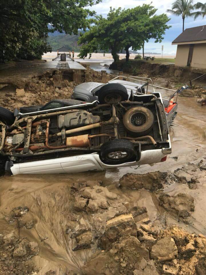
[[[106,229],[101,237],[101,246],[104,250],[120,237],[136,236],[136,224],[131,214],[120,215],[107,221]]]

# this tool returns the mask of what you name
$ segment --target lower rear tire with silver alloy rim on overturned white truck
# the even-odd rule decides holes
[[[134,144],[129,140],[109,140],[101,146],[101,158],[106,164],[121,164],[135,160]]]

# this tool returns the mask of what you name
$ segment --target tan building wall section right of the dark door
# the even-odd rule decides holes
[[[194,46],[191,67],[206,69],[206,43]]]

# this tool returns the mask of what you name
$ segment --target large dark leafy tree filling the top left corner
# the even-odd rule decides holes
[[[101,0],[9,0],[0,5],[0,60],[36,58],[51,50],[45,42],[48,32],[78,34],[90,25],[89,9]],[[26,49],[28,48],[28,53]]]

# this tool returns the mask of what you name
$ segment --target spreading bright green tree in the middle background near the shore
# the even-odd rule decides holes
[[[98,50],[111,50],[114,62],[118,52],[126,51],[129,60],[129,49],[139,50],[144,41],[154,38],[161,42],[169,18],[166,14],[155,15],[157,9],[151,5],[137,6],[133,9],[112,9],[107,18],[96,16],[90,30],[82,34],[79,44],[83,44],[79,56],[85,58]]]

